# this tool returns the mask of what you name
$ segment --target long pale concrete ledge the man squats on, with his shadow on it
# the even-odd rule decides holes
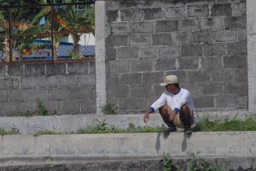
[[[5,135],[0,138],[0,165],[198,156],[256,157],[256,132],[109,133],[87,135]],[[31,160],[33,159],[33,160]]]

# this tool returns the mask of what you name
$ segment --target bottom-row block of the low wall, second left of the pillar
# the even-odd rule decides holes
[[[60,101],[60,112],[61,114],[79,114],[80,102],[77,100]]]

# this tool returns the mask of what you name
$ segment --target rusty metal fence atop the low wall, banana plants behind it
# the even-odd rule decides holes
[[[94,21],[93,0],[0,6],[0,64],[93,60]]]

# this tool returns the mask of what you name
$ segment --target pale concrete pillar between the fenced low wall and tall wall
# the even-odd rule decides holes
[[[105,1],[95,1],[95,69],[97,114],[106,104],[106,13]]]

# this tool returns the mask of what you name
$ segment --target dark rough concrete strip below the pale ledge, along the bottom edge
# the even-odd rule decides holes
[[[212,161],[214,165],[222,164],[222,168],[225,170],[255,170],[256,162],[255,158],[207,158]],[[97,162],[83,162],[80,163],[61,163],[61,164],[45,164],[45,165],[15,165],[8,167],[1,167],[0,170],[4,171],[16,171],[16,170],[163,170],[161,159],[153,160],[123,160],[123,161],[97,161]],[[189,159],[174,159],[173,163],[177,164],[183,170],[189,170]]]

